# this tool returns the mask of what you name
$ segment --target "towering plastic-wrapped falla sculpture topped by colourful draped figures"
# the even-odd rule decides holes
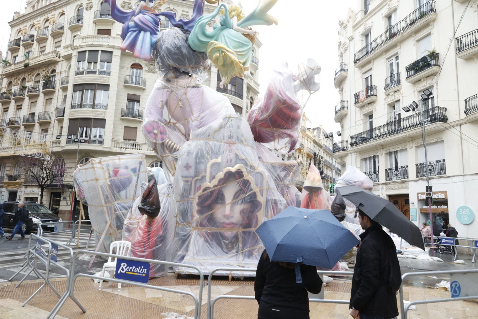
[[[116,0],[106,1],[112,17],[123,23],[121,49],[154,61],[159,71],[144,107],[142,132],[163,163],[154,168],[163,177],[148,168],[142,184],[130,181],[128,189],[144,192],[128,201],[129,207],[121,207],[118,240],[132,242],[134,256],[195,265],[205,274],[218,267],[255,267],[263,250],[255,230],[287,206],[301,205],[293,183],[302,161],[283,161],[277,154],[291,154],[299,147],[307,101],[303,97],[320,88],[320,66],[313,59],[297,70],[284,64],[246,120],[226,95],[202,82],[211,63],[223,86],[249,72],[257,36],[250,26],[277,24],[268,14],[277,0],[259,0],[249,14],[234,3],[196,0],[191,16],[181,19],[172,11],[160,11],[166,0],[145,1],[131,11],[120,9]],[[204,14],[206,8],[210,13]],[[173,27],[161,30],[166,19]],[[75,180],[81,187],[79,177]],[[152,195],[159,200],[145,200]],[[151,274],[166,271],[154,269]],[[187,267],[174,271],[192,272]]]

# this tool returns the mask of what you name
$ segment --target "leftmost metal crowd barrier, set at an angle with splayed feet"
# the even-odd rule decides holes
[[[34,247],[32,247],[32,245],[31,245],[31,244],[32,244],[32,238],[35,240],[35,246],[34,246]],[[43,242],[44,244],[48,245],[48,250],[45,251],[45,250],[43,250],[43,249],[39,249],[39,252],[37,253],[37,252],[36,252],[36,248],[37,248],[37,246],[36,246],[36,241],[37,241],[37,240],[40,240],[40,241]],[[22,304],[22,307],[25,306],[30,300],[32,300],[32,298],[33,298],[44,286],[48,285],[48,286],[50,286],[50,288],[52,288],[52,290],[53,290],[54,293],[58,296],[58,298],[60,298],[60,299],[58,300],[58,302],[56,303],[56,305],[54,306],[53,310],[52,310],[52,311],[54,311],[54,310],[56,309],[56,307],[58,307],[58,305],[59,305],[60,301],[63,299],[63,297],[65,297],[65,295],[66,295],[66,293],[67,293],[67,291],[68,291],[69,281],[67,281],[67,283],[66,283],[66,285],[67,285],[67,286],[66,286],[66,291],[65,291],[65,293],[64,293],[63,295],[60,295],[60,293],[54,288],[54,286],[53,286],[52,283],[50,282],[49,275],[50,275],[50,271],[51,271],[51,269],[50,269],[50,265],[51,265],[51,264],[54,264],[55,266],[57,266],[57,267],[61,268],[62,270],[64,270],[64,271],[66,272],[66,277],[68,277],[68,278],[69,278],[70,275],[71,275],[71,267],[72,267],[72,264],[71,264],[71,263],[70,263],[69,268],[66,268],[65,266],[63,266],[63,265],[61,265],[61,264],[58,264],[57,262],[55,262],[54,260],[51,259],[51,258],[52,258],[52,244],[57,245],[58,248],[61,247],[61,248],[64,248],[64,249],[68,250],[69,253],[70,253],[70,261],[71,261],[71,258],[73,258],[73,250],[72,250],[70,247],[68,247],[68,246],[66,246],[66,245],[64,245],[64,244],[61,244],[61,243],[59,243],[59,242],[54,242],[54,241],[49,240],[49,239],[47,239],[47,238],[44,238],[44,237],[42,237],[42,236],[37,236],[37,235],[31,233],[31,234],[30,234],[30,238],[29,238],[29,242],[28,242],[28,247],[29,247],[29,248],[28,248],[28,252],[27,252],[28,256],[27,256],[26,264],[25,264],[15,275],[11,276],[11,278],[9,279],[9,281],[10,281],[11,279],[13,279],[16,275],[20,274],[20,272],[21,272],[23,269],[25,269],[25,267],[30,266],[30,268],[31,268],[30,271],[29,271],[26,275],[23,276],[22,280],[20,280],[20,282],[19,282],[15,287],[20,286],[20,285],[22,284],[22,282],[23,282],[23,281],[28,277],[28,275],[30,275],[32,272],[34,272],[39,278],[41,277],[44,282],[43,282],[42,286],[40,286],[40,288],[38,288],[38,289],[33,293],[32,296],[28,297],[28,299],[25,300],[25,302]],[[33,264],[32,264],[31,261],[30,261],[30,254],[32,254],[33,257],[34,257]],[[57,254],[58,254],[58,252],[57,252]],[[43,275],[42,272],[37,268],[37,262],[38,262],[38,261],[40,261],[42,264],[45,265],[45,271],[44,271],[45,274],[44,274],[44,275]],[[76,304],[78,304],[78,302],[77,302],[75,299],[73,299],[73,301],[75,301]],[[47,319],[49,319],[49,318],[50,318],[50,315],[47,317]]]

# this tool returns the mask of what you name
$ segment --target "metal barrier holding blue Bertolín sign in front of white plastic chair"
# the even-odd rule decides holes
[[[125,279],[117,279],[117,278],[109,278],[109,277],[101,277],[101,276],[96,276],[96,275],[88,275],[88,274],[76,274],[75,275],[75,266],[76,266],[76,257],[80,253],[88,253],[88,254],[94,254],[94,255],[100,255],[105,257],[106,259],[108,257],[114,257],[114,258],[120,258],[120,259],[126,259],[126,260],[132,260],[132,261],[138,261],[138,262],[144,262],[144,263],[150,263],[150,264],[163,264],[163,265],[168,265],[168,266],[179,266],[179,267],[186,267],[186,268],[192,268],[195,269],[198,274],[199,274],[199,296],[196,297],[195,294],[189,291],[183,291],[183,290],[177,290],[177,289],[170,289],[162,286],[152,286],[149,284],[143,284],[139,282],[134,282],[130,280],[125,280]],[[182,294],[182,295],[188,295],[194,299],[194,302],[196,304],[196,310],[195,310],[195,317],[196,319],[201,318],[201,303],[199,300],[202,301],[202,296],[203,296],[203,287],[204,287],[204,274],[201,271],[199,267],[193,266],[193,265],[187,265],[187,264],[178,264],[178,263],[172,263],[172,262],[163,262],[159,260],[152,260],[152,259],[144,259],[144,258],[136,258],[136,257],[130,257],[130,256],[121,256],[121,255],[115,255],[115,254],[110,254],[110,253],[99,253],[99,252],[93,252],[89,250],[84,250],[80,249],[78,250],[74,256],[72,256],[72,264],[71,264],[71,273],[68,277],[68,285],[65,294],[63,297],[60,299],[58,302],[57,306],[52,310],[50,315],[47,317],[47,319],[53,319],[57,314],[60,308],[65,304],[66,299],[71,298],[73,301],[76,302],[78,307],[81,309],[81,311],[86,312],[87,309],[81,305],[81,303],[76,299],[74,292],[75,292],[75,281],[76,278],[78,277],[87,277],[91,279],[99,279],[99,280],[106,280],[106,281],[111,281],[115,283],[121,283],[121,284],[127,284],[127,285],[134,285],[134,286],[140,286],[143,288],[152,288],[156,290],[163,290],[163,291],[168,291],[168,292],[174,292],[177,294]]]

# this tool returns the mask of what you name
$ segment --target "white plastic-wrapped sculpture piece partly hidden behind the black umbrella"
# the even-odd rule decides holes
[[[363,174],[357,167],[355,166],[348,166],[347,170],[337,179],[337,184],[335,187],[341,186],[359,186],[363,189],[371,191],[373,189],[373,182],[370,180],[368,176]],[[345,221],[353,224],[358,224],[359,221],[355,216],[355,209],[356,206],[352,204],[348,199],[342,198],[341,196],[337,195],[333,201],[332,209],[334,214],[338,214],[339,210],[337,203],[344,202],[345,203]]]

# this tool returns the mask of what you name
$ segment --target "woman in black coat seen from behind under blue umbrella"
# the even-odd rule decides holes
[[[297,284],[295,264],[271,262],[264,251],[257,265],[254,292],[259,303],[258,319],[309,319],[307,291],[318,294],[322,280],[314,266],[300,266],[302,283]]]

